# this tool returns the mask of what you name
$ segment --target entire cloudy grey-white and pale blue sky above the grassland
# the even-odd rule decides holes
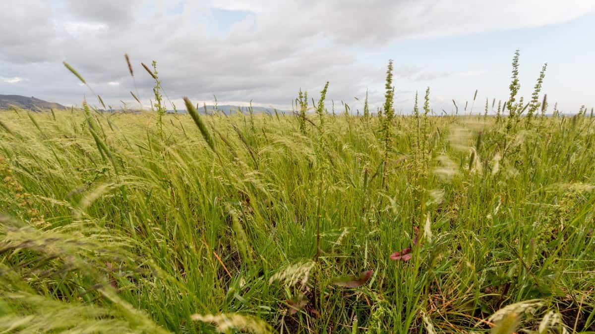
[[[593,0],[0,0],[0,94],[98,105],[66,61],[107,105],[139,108],[137,89],[146,107],[154,82],[140,62],[155,60],[179,107],[217,96],[290,109],[300,89],[318,99],[329,81],[327,108],[362,110],[368,91],[375,110],[393,59],[397,112],[427,87],[437,113],[453,99],[475,113],[488,99],[492,112],[520,49],[520,94],[530,99],[547,62],[542,92],[572,113],[595,106],[594,21]]]

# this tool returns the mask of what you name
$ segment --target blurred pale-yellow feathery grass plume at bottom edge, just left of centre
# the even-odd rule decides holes
[[[225,314],[192,314],[190,319],[199,322],[213,323],[217,332],[231,333],[231,330],[238,329],[242,332],[248,331],[255,334],[273,334],[274,330],[262,319],[253,316],[245,316],[239,313]]]

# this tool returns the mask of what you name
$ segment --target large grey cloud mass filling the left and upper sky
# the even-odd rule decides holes
[[[328,80],[329,99],[363,97],[369,88],[370,100],[381,100],[386,64],[362,61],[364,49],[382,50],[402,39],[543,26],[594,9],[595,2],[579,0],[370,0],[365,7],[355,0],[29,0],[0,11],[0,68],[11,69],[5,75],[30,78],[35,86],[27,95],[46,94],[64,103],[89,93],[62,67],[64,60],[91,86],[105,87],[107,92],[98,92],[104,100],[133,103],[126,52],[144,101],[154,83],[139,65],[152,59],[172,99],[212,100],[217,94],[222,103],[254,99],[287,107],[300,87],[316,97]],[[233,21],[231,11],[244,14]],[[215,34],[213,24],[223,19],[230,20],[228,30]],[[395,77],[408,84],[455,75],[478,74],[424,64],[395,69]]]

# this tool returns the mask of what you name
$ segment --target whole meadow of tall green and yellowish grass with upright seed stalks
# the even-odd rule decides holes
[[[392,65],[380,113],[2,111],[0,332],[595,332],[594,118],[515,59],[474,115]]]

